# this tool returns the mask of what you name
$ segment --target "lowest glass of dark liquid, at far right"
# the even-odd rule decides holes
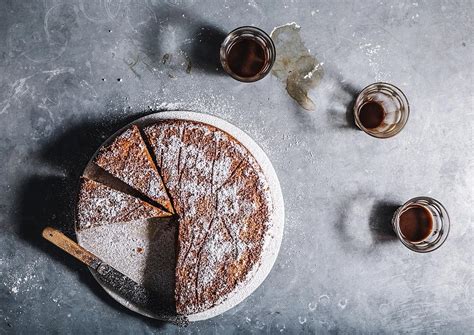
[[[429,252],[444,243],[451,223],[448,212],[439,201],[418,197],[397,209],[392,225],[406,247],[416,252]]]

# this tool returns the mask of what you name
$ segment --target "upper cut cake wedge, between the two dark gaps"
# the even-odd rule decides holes
[[[174,213],[158,169],[137,126],[99,150],[94,162],[114,177]]]

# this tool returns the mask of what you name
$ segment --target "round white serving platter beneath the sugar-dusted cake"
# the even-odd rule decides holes
[[[216,128],[219,128],[237,139],[254,156],[260,165],[265,177],[269,183],[269,192],[271,193],[274,210],[270,219],[268,231],[264,238],[264,246],[260,263],[248,274],[246,280],[236,287],[221,303],[200,312],[188,315],[190,321],[199,321],[212,318],[232,307],[238,305],[246,297],[252,294],[260,284],[265,280],[275,263],[283,238],[284,227],[284,203],[278,177],[273,166],[264,153],[264,151],[242,130],[236,126],[224,121],[218,117],[189,112],[189,111],[167,111],[147,115],[139,118],[122,129],[119,129],[103,145],[110,143],[116,136],[120,135],[131,125],[143,127],[154,122],[163,120],[188,120],[202,122]],[[91,168],[92,161],[96,154],[91,158],[85,171]],[[156,241],[156,236],[170,236],[176,232],[163,228],[163,231],[150,231],[153,223],[133,222],[129,224],[111,224],[103,227],[96,227],[86,230],[76,230],[78,243],[102,258],[117,270],[123,272],[139,284],[150,286],[157,285],[157,290],[167,290],[172,293],[174,287],[173,269],[166,266],[174,257],[174,247],[165,241]],[[158,225],[159,229],[165,227]],[[158,229],[158,228],[157,228]],[[151,238],[153,237],[153,239]],[[160,249],[161,248],[161,249]],[[166,252],[166,248],[170,252]],[[159,251],[156,251],[160,249]],[[155,250],[155,254],[137,252],[140,250]],[[153,264],[150,265],[150,258]],[[160,267],[162,267],[160,269]],[[152,270],[152,271],[151,271]],[[150,276],[150,272],[152,275]],[[94,272],[92,274],[95,276]],[[97,278],[96,278],[97,279]],[[102,285],[102,283],[98,280]],[[102,287],[119,303],[125,307],[140,313],[142,315],[155,318],[154,315],[140,309],[131,302],[127,301],[106,286]]]

